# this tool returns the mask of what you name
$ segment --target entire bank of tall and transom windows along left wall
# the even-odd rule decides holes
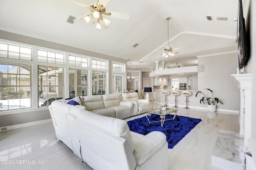
[[[37,109],[41,106],[48,106],[54,100],[64,97],[105,94],[106,92],[108,60],[84,55],[78,55],[80,56],[78,57],[75,56],[76,54],[69,55],[65,51],[48,50],[44,47],[5,39],[1,41],[1,115],[26,112],[30,110],[26,108],[30,107]],[[121,64],[116,65],[117,70],[121,69]],[[32,74],[32,70],[38,70],[36,75]],[[91,78],[90,86],[88,77]],[[37,104],[34,104],[34,101]],[[22,110],[7,111],[10,109]]]

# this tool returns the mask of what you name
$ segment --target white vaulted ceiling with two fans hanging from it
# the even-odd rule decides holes
[[[67,22],[69,16],[90,13],[70,0],[1,0],[0,29],[128,59],[140,68],[155,66],[155,61],[191,66],[198,55],[237,50],[238,0],[110,0],[106,10],[129,14],[129,20],[106,16],[109,29],[97,30],[92,21]],[[168,39],[171,47],[182,49],[164,58]],[[139,45],[132,47],[135,43]]]

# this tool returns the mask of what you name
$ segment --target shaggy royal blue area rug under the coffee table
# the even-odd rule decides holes
[[[150,121],[160,120],[159,115],[148,116]],[[172,119],[173,115],[166,115],[165,119]],[[161,122],[148,123],[146,116],[128,121],[130,131],[146,135],[152,131],[161,131],[166,135],[168,148],[172,149],[181,139],[183,139],[200,121],[191,117],[176,115],[174,120],[164,122],[161,127]]]

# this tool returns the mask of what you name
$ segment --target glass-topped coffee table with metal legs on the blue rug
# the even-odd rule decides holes
[[[146,111],[146,117],[147,117],[149,123],[161,122],[161,126],[163,127],[164,121],[175,119],[175,117],[177,115],[177,111],[178,111],[178,109],[169,109],[169,108],[167,108],[166,111],[159,111],[158,109],[151,109],[149,111]],[[165,116],[169,115],[171,113],[174,113],[173,118],[172,119],[165,119]],[[151,116],[152,114],[160,115],[161,120],[159,120],[159,121],[150,121],[148,116]]]

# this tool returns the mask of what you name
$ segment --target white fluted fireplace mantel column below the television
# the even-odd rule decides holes
[[[252,115],[252,73],[231,74],[237,80],[240,89],[240,135],[244,135],[244,146],[249,147],[248,139],[251,138]]]

